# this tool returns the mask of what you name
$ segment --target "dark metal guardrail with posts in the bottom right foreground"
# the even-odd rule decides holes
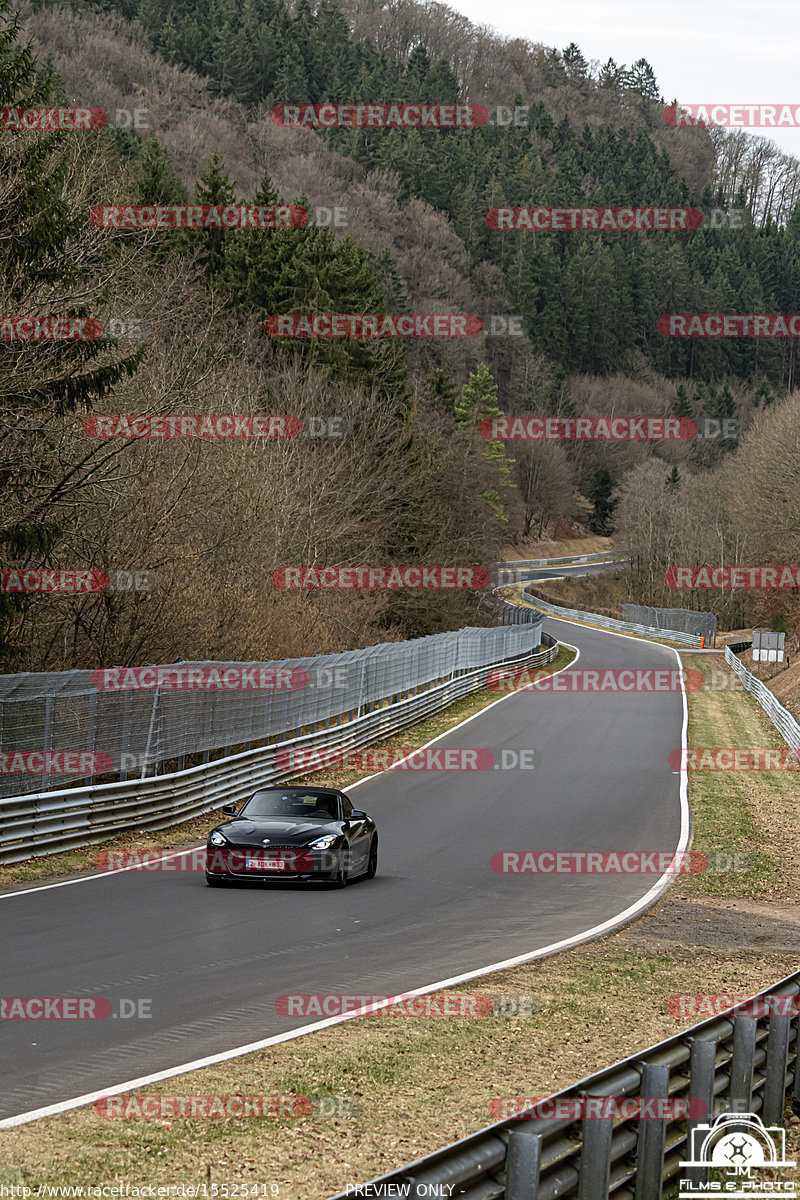
[[[759,996],[799,992],[800,972]],[[780,1124],[787,1092],[800,1102],[796,1001],[786,1007],[794,1014],[741,1015],[728,1009],[548,1097],[549,1102],[588,1096],[669,1097],[694,1100],[690,1112],[699,1109],[706,1117],[576,1121],[567,1115],[525,1120],[519,1112],[531,1112],[529,1106],[362,1184],[363,1194],[404,1195],[409,1200],[432,1195],[453,1200],[660,1200],[663,1184],[679,1175],[704,1183],[706,1168],[680,1165],[691,1157],[692,1129],[722,1112],[760,1114],[766,1124]],[[393,1190],[389,1190],[390,1184]],[[338,1193],[331,1200],[345,1196]]]

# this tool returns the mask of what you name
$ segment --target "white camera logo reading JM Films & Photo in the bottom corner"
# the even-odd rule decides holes
[[[717,1195],[796,1196],[795,1184],[774,1177],[759,1178],[762,1170],[795,1166],[786,1158],[786,1133],[780,1126],[766,1127],[754,1112],[722,1112],[712,1124],[698,1124],[690,1134],[691,1158],[681,1162],[692,1168],[693,1178],[681,1178],[679,1198]],[[724,1172],[724,1182],[703,1182],[700,1174],[709,1168]],[[756,1174],[754,1174],[756,1172]]]

